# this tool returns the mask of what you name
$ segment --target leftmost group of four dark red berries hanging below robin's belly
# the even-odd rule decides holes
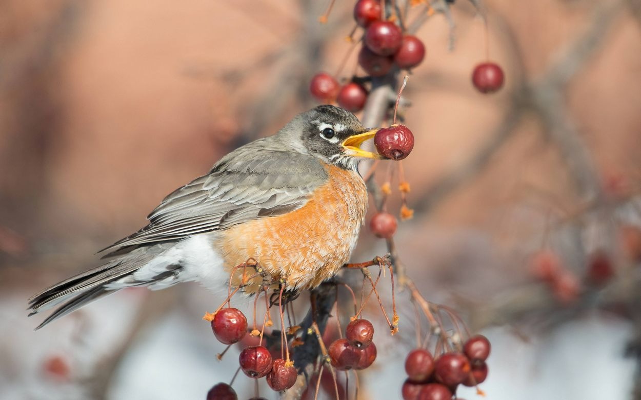
[[[223,344],[238,343],[247,337],[247,318],[237,308],[221,308],[215,313],[211,323],[213,334]],[[251,337],[256,336],[253,333],[250,333]],[[245,346],[240,352],[238,363],[242,372],[249,378],[265,377],[269,387],[276,392],[294,386],[297,378],[294,363],[274,357],[261,343],[262,338],[255,346]],[[226,383],[215,385],[207,394],[207,400],[222,399],[237,399],[233,388]]]

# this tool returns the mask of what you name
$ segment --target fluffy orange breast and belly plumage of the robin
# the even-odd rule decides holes
[[[328,182],[285,215],[233,226],[213,246],[226,269],[254,258],[288,287],[312,288],[349,260],[367,211],[367,190],[356,172],[326,167]]]

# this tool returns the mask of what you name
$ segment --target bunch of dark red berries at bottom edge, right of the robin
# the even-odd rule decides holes
[[[487,378],[490,342],[482,335],[470,337],[462,351],[434,358],[427,349],[410,351],[405,360],[408,378],[401,393],[404,400],[449,400],[458,385],[476,386]]]

